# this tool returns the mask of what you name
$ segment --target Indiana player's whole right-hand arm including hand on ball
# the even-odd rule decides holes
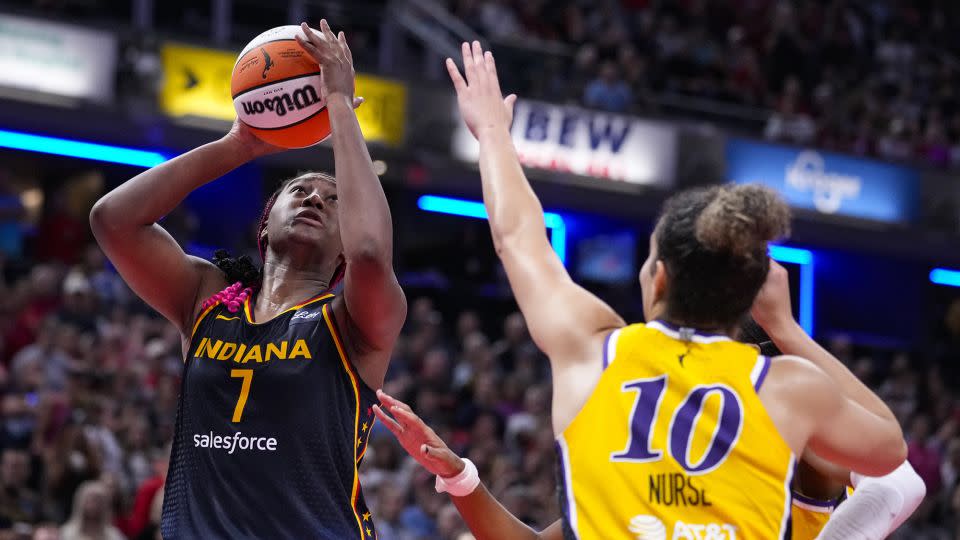
[[[390,349],[407,316],[407,302],[393,272],[393,222],[387,197],[373,170],[354,112],[353,57],[343,32],[320,21],[321,38],[303,25],[304,49],[323,68],[333,139],[340,207],[340,238],[347,262],[344,300],[347,331],[359,349],[361,376],[374,388],[383,383]]]

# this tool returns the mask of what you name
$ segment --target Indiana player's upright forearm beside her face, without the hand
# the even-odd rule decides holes
[[[393,257],[390,207],[380,179],[373,171],[351,98],[334,94],[328,99],[344,257],[348,262],[363,257],[390,264]]]

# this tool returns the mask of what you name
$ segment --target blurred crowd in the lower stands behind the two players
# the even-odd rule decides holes
[[[71,263],[7,261],[0,273],[0,539],[157,538],[180,337],[84,245]],[[550,524],[559,508],[549,365],[522,316],[408,293],[385,389],[470,457],[515,515]],[[897,538],[960,538],[960,301],[944,328],[922,355],[828,343],[901,419],[927,484]],[[379,537],[468,538],[393,436],[377,425],[371,437],[361,474]]]

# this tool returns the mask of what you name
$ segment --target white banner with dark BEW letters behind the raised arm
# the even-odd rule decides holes
[[[459,118],[459,112],[454,112]],[[513,143],[527,167],[643,185],[670,185],[676,174],[677,130],[631,116],[518,101]],[[475,162],[480,146],[462,121],[453,155]]]

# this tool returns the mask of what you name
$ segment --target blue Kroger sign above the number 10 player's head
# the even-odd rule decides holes
[[[888,222],[916,212],[919,180],[907,167],[737,139],[726,158],[731,181],[769,186],[796,208]]]

